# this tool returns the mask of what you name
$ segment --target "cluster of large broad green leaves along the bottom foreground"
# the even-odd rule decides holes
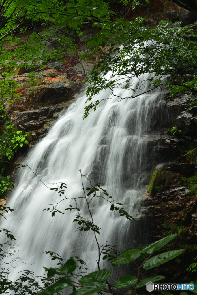
[[[139,258],[142,255],[142,253],[146,253],[146,255],[149,255],[149,256],[144,259],[141,266],[138,266],[135,262],[138,268],[137,277],[122,276],[118,279],[118,281],[114,282],[113,284],[109,284],[108,280],[111,276],[111,271],[108,269],[102,269],[102,270],[95,271],[93,273],[89,273],[88,275],[82,276],[77,282],[76,280],[71,279],[71,277],[73,277],[73,272],[77,267],[76,261],[70,258],[61,268],[56,268],[56,269],[45,268],[48,271],[48,278],[51,278],[51,276],[55,276],[56,274],[66,275],[66,276],[59,278],[58,281],[56,281],[51,286],[48,286],[47,288],[41,290],[38,294],[52,295],[56,291],[63,290],[64,288],[68,288],[69,286],[73,288],[73,292],[71,293],[72,295],[76,295],[76,294],[92,295],[101,290],[102,292],[105,292],[105,293],[121,294],[117,292],[116,288],[122,289],[122,288],[128,288],[128,287],[133,287],[135,289],[135,294],[136,294],[137,289],[145,286],[146,283],[148,283],[149,281],[156,282],[165,278],[164,276],[154,276],[154,277],[143,279],[143,276],[145,273],[140,276],[140,270],[142,267],[145,269],[145,271],[147,271],[148,269],[154,268],[156,266],[159,266],[169,261],[170,259],[173,259],[174,257],[180,255],[184,251],[184,250],[169,251],[169,252],[161,253],[159,255],[155,255],[152,258],[150,258],[155,251],[160,250],[164,245],[166,245],[175,237],[176,235],[167,236],[153,243],[152,245],[149,245],[147,248],[145,248],[142,251],[139,249],[133,249],[133,250],[123,252],[121,255],[115,258],[115,260],[112,262],[113,266],[118,264],[126,265],[127,263],[130,263],[131,261],[134,261],[137,258]],[[67,265],[69,265],[69,267]],[[65,269],[65,271],[63,271],[63,269]]]

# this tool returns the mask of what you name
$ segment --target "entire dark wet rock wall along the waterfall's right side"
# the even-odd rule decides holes
[[[161,161],[152,169],[149,194],[146,194],[144,202],[148,234],[152,239],[177,233],[176,242],[167,250],[185,249],[184,257],[158,269],[157,274],[165,273],[166,282],[196,279],[194,273],[186,271],[197,254],[196,101],[197,98],[190,93],[173,98],[170,98],[170,93],[164,96],[166,128],[154,145]],[[176,127],[174,135],[172,127]]]

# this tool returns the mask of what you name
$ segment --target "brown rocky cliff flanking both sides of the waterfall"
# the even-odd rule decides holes
[[[142,7],[135,13],[125,11],[125,14],[127,19],[144,16],[144,25],[149,27],[165,19],[171,22],[180,20],[182,25],[197,20],[196,14],[163,0],[153,0],[146,8]],[[63,48],[62,61],[52,59],[42,67],[39,64],[34,69],[27,67],[11,77],[19,86],[18,97],[12,103],[10,99],[4,99],[3,103],[16,129],[31,135],[29,148],[45,135],[58,114],[75,100],[83,80],[97,61],[97,56],[91,60],[79,58],[80,53],[88,52],[83,41],[96,33],[88,27],[80,38],[70,32],[77,45],[76,51],[67,54]],[[48,42],[48,49],[58,46],[57,40],[58,31]],[[4,46],[6,50],[13,50],[9,44]],[[36,85],[29,81],[32,71],[35,72],[33,78],[38,81]],[[158,273],[166,272],[167,280],[175,282],[180,277],[188,280],[195,276],[195,273],[186,272],[186,267],[197,256],[197,97],[188,93],[170,98],[168,91],[163,94],[161,113],[157,114],[160,120],[162,117],[162,126],[157,134],[153,133],[147,139],[147,148],[157,155],[159,165],[154,162],[150,166],[149,190],[143,206],[150,240],[178,233],[171,248],[186,249],[183,254],[186,259],[182,255],[175,263],[167,263],[158,270]],[[152,122],[154,124],[157,121]]]

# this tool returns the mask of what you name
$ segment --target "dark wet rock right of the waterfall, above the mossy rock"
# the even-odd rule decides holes
[[[192,94],[181,94],[173,98],[170,98],[170,93],[165,95],[163,104],[167,112],[166,129],[161,133],[159,144],[155,147],[164,159],[179,157],[189,148],[196,147],[196,102],[197,98]],[[172,127],[177,127],[174,135],[171,132]]]

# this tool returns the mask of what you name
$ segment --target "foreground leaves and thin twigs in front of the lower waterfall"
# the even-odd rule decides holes
[[[91,181],[85,176],[82,175],[82,191],[83,195],[78,196],[74,199],[67,200],[74,200],[76,203],[76,208],[73,208],[71,205],[68,206],[67,209],[69,210],[77,210],[79,214],[80,209],[77,205],[77,200],[80,198],[84,200],[84,204],[86,204],[91,219],[89,222],[92,224],[92,231],[95,236],[95,242],[98,246],[98,260],[97,266],[98,270],[94,272],[88,273],[88,268],[86,263],[80,259],[78,256],[70,257],[66,261],[61,258],[57,253],[53,253],[51,251],[46,251],[46,254],[50,254],[51,260],[58,261],[57,268],[54,267],[44,267],[46,273],[43,276],[35,276],[33,272],[28,270],[24,270],[19,279],[15,282],[9,280],[9,271],[6,268],[2,268],[0,273],[0,291],[3,294],[9,294],[9,292],[14,292],[14,294],[39,294],[39,295],[52,295],[52,294],[61,294],[60,292],[65,288],[71,288],[73,292],[72,295],[92,295],[100,291],[104,293],[110,294],[117,294],[121,295],[117,289],[128,288],[131,287],[133,289],[134,294],[138,292],[138,289],[145,286],[147,282],[152,281],[156,282],[165,278],[164,276],[154,276],[149,278],[143,278],[147,270],[152,269],[154,267],[158,267],[163,263],[175,258],[176,256],[180,255],[184,250],[173,250],[162,253],[160,250],[162,247],[167,245],[170,241],[172,241],[177,235],[173,234],[167,236],[157,242],[154,242],[151,245],[146,245],[141,248],[136,249],[129,249],[126,251],[117,251],[115,250],[114,246],[109,246],[107,243],[104,245],[99,245],[97,235],[99,232],[97,229],[100,230],[100,227],[95,225],[94,218],[92,215],[91,209],[91,201],[94,198],[102,198],[108,201],[110,204],[113,204],[115,200],[108,200],[106,198],[109,197],[107,191],[103,188],[100,183],[97,183],[96,186],[91,185]],[[90,186],[84,187],[83,179],[89,181]],[[1,181],[5,181],[5,179],[0,179]],[[55,183],[53,183],[55,185]],[[49,188],[50,189],[50,188]],[[58,186],[51,188],[52,190],[57,191],[60,197],[63,195],[65,196],[66,185],[65,183],[60,183]],[[106,197],[106,198],[105,198]],[[117,202],[116,202],[117,203]],[[56,203],[58,204],[58,203]],[[118,203],[120,204],[120,203]],[[122,204],[121,204],[122,205]],[[116,206],[114,206],[116,207]],[[11,211],[12,209],[8,208],[7,211]],[[58,210],[56,212],[59,212]],[[109,211],[110,212],[110,211]],[[62,212],[60,212],[62,213]],[[54,216],[52,214],[52,216]],[[79,214],[81,220],[84,218],[81,214]],[[75,220],[74,220],[75,221]],[[79,220],[80,221],[80,220]],[[82,223],[78,221],[80,227]],[[89,230],[87,230],[88,232]],[[4,233],[8,240],[0,245],[0,261],[1,264],[5,263],[5,258],[10,258],[10,263],[13,261],[20,261],[21,258],[16,256],[16,249],[13,245],[13,241],[15,242],[16,239],[6,229],[0,229],[0,232]],[[88,233],[84,234],[88,234]],[[158,255],[152,256],[153,253],[156,251],[160,251]],[[125,266],[128,263],[134,263],[137,266],[137,274],[136,276],[122,276],[117,281],[113,282],[114,279],[111,278],[112,272],[109,269],[100,269],[100,258],[103,256],[103,260],[108,258],[106,253],[111,253],[113,255],[109,255],[112,266]],[[7,261],[7,260],[6,260]],[[7,262],[6,262],[7,263]],[[79,263],[79,266],[78,266]],[[144,270],[143,270],[144,268]],[[145,272],[144,272],[145,271]],[[109,280],[111,283],[109,283]]]

